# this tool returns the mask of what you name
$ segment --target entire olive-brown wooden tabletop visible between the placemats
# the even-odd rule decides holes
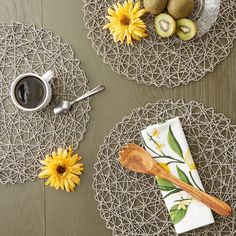
[[[106,91],[92,98],[91,121],[80,145],[85,173],[75,193],[44,187],[42,180],[0,185],[1,236],[111,236],[97,211],[92,189],[96,153],[109,130],[132,109],[158,99],[196,100],[236,123],[236,50],[200,82],[174,89],[128,81],[103,64],[87,39],[82,0],[0,0],[0,20],[44,27],[69,43],[80,58],[90,87]]]

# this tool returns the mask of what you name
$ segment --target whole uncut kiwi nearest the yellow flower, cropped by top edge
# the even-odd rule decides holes
[[[160,14],[167,6],[168,0],[144,0],[143,5],[148,12]]]

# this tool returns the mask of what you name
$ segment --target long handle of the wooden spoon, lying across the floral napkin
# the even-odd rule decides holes
[[[154,167],[152,169],[152,174],[155,176],[161,177],[170,181],[171,183],[175,184],[179,188],[183,189],[187,193],[189,193],[192,197],[196,198],[197,200],[204,203],[206,206],[211,208],[213,211],[218,213],[221,216],[230,216],[232,214],[232,209],[230,206],[221,201],[220,199],[213,197],[197,188],[192,187],[189,184],[181,181],[180,179],[176,178],[175,176],[169,174],[165,170],[160,171],[160,167]]]

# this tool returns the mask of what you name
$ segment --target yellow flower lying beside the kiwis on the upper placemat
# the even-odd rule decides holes
[[[123,4],[116,3],[113,8],[108,8],[107,23],[103,28],[109,29],[115,42],[132,44],[132,39],[140,41],[147,37],[146,25],[140,17],[146,13],[145,9],[140,9],[141,3],[134,4],[133,0],[127,0]]]

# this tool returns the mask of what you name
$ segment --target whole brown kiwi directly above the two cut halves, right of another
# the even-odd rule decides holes
[[[169,0],[167,11],[176,20],[186,18],[193,12],[193,0]]]

